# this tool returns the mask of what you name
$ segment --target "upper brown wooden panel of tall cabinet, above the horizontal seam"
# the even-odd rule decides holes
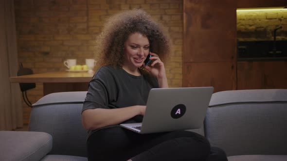
[[[184,0],[183,62],[230,62],[236,55],[236,1]]]

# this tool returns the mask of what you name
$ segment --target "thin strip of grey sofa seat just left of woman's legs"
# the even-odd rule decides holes
[[[88,161],[88,158],[71,155],[46,155],[41,161]]]

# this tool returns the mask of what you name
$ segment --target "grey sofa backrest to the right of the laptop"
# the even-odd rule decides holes
[[[287,89],[213,94],[204,122],[212,146],[233,155],[287,155]]]

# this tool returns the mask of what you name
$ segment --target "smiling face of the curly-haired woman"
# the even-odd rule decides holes
[[[139,32],[130,34],[125,42],[124,53],[124,67],[130,69],[141,67],[149,53],[149,42],[147,37]]]

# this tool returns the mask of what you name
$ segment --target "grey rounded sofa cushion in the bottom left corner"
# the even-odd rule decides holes
[[[45,132],[0,131],[0,161],[39,161],[52,149]]]

